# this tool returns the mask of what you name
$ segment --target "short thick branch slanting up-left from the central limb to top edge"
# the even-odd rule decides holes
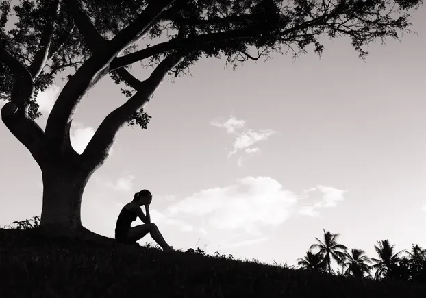
[[[80,34],[82,34],[90,51],[95,53],[97,49],[102,48],[106,44],[107,40],[99,34],[95,26],[92,24],[90,18],[82,9],[79,0],[64,0],[64,2],[68,6],[75,25],[77,25],[77,28]]]

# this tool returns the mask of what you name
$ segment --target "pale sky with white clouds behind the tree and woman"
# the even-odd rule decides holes
[[[151,221],[175,249],[296,266],[323,229],[371,258],[378,240],[426,248],[425,14],[412,14],[418,35],[378,41],[365,61],[349,39],[324,38],[321,58],[275,54],[235,71],[203,58],[192,76],[166,79],[145,108],[148,129],[124,126],[88,182],[83,225],[114,237],[121,208],[146,188]],[[42,128],[65,82],[38,95]],[[124,102],[110,77],[92,88],[74,117],[74,149]],[[42,179],[3,123],[0,139],[4,226],[40,216]]]

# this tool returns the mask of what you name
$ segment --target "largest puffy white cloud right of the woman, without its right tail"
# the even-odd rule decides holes
[[[258,234],[259,227],[283,223],[298,198],[269,177],[245,177],[238,184],[201,190],[170,206],[171,215],[190,214],[207,219],[216,229],[243,229]]]

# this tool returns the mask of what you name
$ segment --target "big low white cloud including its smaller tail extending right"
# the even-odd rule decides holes
[[[215,229],[240,230],[258,234],[262,227],[277,227],[290,216],[318,216],[318,208],[336,206],[344,200],[347,190],[316,186],[306,193],[317,191],[321,199],[310,206],[301,206],[307,198],[295,195],[270,177],[245,177],[236,184],[200,190],[190,197],[177,200],[164,211],[164,216],[184,219],[194,226],[206,225]]]

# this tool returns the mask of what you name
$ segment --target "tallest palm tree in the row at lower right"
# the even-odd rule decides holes
[[[313,244],[309,249],[318,248],[320,250],[319,253],[321,253],[321,256],[324,257],[324,262],[328,266],[329,273],[331,273],[331,258],[334,258],[334,260],[336,260],[339,265],[344,265],[344,258],[346,256],[344,252],[339,251],[338,249],[343,249],[344,251],[346,251],[347,247],[336,242],[339,234],[331,234],[328,231],[325,232],[324,229],[323,231],[324,243],[322,243],[321,240],[315,237],[315,239],[320,244]]]

